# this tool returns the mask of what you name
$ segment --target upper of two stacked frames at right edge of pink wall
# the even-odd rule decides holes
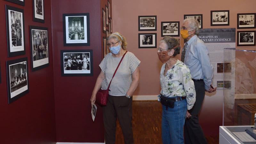
[[[237,28],[256,28],[256,13],[237,13]]]

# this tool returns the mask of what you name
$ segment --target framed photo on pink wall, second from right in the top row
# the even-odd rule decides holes
[[[211,11],[211,26],[229,26],[229,10]]]

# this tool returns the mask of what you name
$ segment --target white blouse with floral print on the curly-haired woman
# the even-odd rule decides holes
[[[177,60],[174,66],[167,70],[164,76],[163,64],[160,72],[161,94],[165,97],[186,97],[187,109],[191,109],[196,101],[196,90],[188,67]]]

